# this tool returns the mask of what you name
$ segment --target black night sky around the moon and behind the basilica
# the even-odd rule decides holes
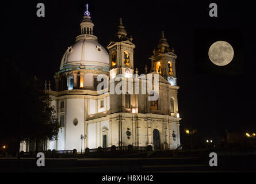
[[[45,4],[45,17],[36,5]],[[161,31],[178,55],[179,113],[184,128],[198,129],[217,139],[226,129],[255,129],[255,16],[251,1],[214,1],[218,16],[209,17],[213,1],[8,1],[3,21],[4,61],[54,82],[64,51],[80,33],[85,3],[94,22],[94,35],[106,48],[123,18],[135,43],[134,65],[150,68],[152,50]],[[217,67],[208,48],[218,40],[234,48],[234,60]],[[184,135],[182,135],[184,136]],[[182,139],[182,138],[181,138]]]

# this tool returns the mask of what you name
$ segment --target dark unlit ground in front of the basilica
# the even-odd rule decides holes
[[[197,158],[45,158],[38,167],[35,158],[0,158],[0,172],[83,172],[83,173],[163,173],[163,172],[256,172],[256,156],[219,156],[217,167],[207,157]]]

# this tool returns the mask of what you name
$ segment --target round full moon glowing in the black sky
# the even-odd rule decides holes
[[[226,41],[216,41],[209,48],[208,55],[213,64],[225,66],[232,61],[234,49]]]

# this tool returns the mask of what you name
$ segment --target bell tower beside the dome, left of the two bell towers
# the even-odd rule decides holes
[[[131,78],[135,44],[132,43],[132,36],[127,37],[121,18],[120,24],[117,26],[117,33],[107,48],[109,50],[110,79],[115,78],[118,74]]]

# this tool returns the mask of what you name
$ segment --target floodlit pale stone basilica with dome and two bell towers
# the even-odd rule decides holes
[[[153,51],[151,67],[144,75],[157,75],[158,99],[149,101],[151,94],[111,94],[110,85],[120,74],[132,78],[127,85],[134,86],[133,49],[135,44],[128,36],[120,18],[117,32],[106,49],[94,35],[94,24],[88,9],[80,24],[81,34],[67,47],[55,73],[55,90],[45,84],[45,92],[55,106],[60,123],[58,140],[48,141],[47,150],[84,150],[85,148],[111,147],[112,145],[146,147],[154,150],[174,150],[180,145],[179,117],[175,59],[164,33]],[[108,77],[108,87],[98,93],[97,76]],[[112,79],[112,82],[111,82]],[[132,81],[132,82],[131,82]],[[141,85],[143,79],[139,79]],[[154,86],[154,83],[152,84]],[[83,139],[81,144],[81,137]],[[21,150],[28,150],[21,145]]]

